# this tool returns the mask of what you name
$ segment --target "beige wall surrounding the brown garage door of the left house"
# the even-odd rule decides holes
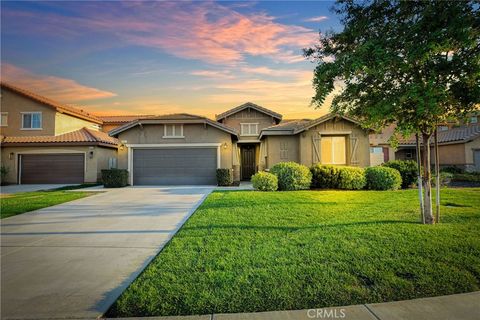
[[[88,153],[93,150],[93,158],[90,159]],[[10,159],[10,153],[13,153]],[[62,147],[2,147],[1,159],[9,172],[5,179],[7,183],[18,183],[18,155],[19,154],[46,154],[46,153],[84,153],[85,164],[85,182],[97,182],[101,177],[101,170],[108,169],[108,158],[116,157],[116,149],[102,148],[98,146],[62,146]]]

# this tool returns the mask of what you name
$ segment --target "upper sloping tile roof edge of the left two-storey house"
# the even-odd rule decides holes
[[[68,106],[68,105],[65,105],[65,104],[61,104],[59,102],[53,101],[49,98],[46,98],[46,97],[41,96],[39,94],[33,93],[31,91],[19,88],[17,86],[14,86],[10,83],[6,83],[4,81],[2,81],[0,83],[0,86],[2,88],[6,88],[10,91],[13,91],[13,92],[16,92],[20,95],[23,95],[24,97],[27,97],[27,98],[30,98],[30,99],[35,100],[37,102],[40,102],[42,104],[48,105],[48,106],[54,108],[55,110],[57,110],[58,112],[66,113],[66,114],[69,114],[69,115],[72,115],[72,116],[75,116],[75,117],[78,117],[78,118],[82,118],[82,119],[85,119],[85,120],[88,120],[88,121],[92,121],[92,122],[95,122],[95,123],[99,123],[99,124],[102,123],[101,119],[99,119],[97,116],[95,116],[95,115],[93,115],[93,114],[91,114],[91,113],[89,113],[85,110],[78,109],[78,108]]]

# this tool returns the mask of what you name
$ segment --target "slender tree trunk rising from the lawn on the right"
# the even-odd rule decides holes
[[[432,213],[432,171],[431,171],[431,152],[430,137],[432,134],[422,133],[423,136],[423,221],[425,224],[433,224]]]

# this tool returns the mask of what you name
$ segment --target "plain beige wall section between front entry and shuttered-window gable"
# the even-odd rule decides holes
[[[270,169],[273,165],[279,162],[300,162],[299,160],[299,136],[267,136],[267,168]],[[284,158],[281,157],[281,146],[285,144],[287,146],[287,152],[284,154]]]

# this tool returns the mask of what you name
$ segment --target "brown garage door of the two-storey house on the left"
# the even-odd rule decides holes
[[[84,154],[22,154],[20,183],[83,183]]]

